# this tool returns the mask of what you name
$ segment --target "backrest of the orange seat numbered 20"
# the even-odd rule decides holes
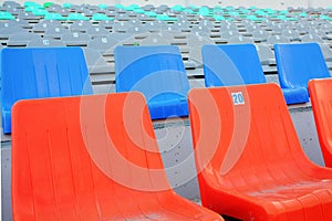
[[[188,99],[200,191],[207,188],[205,179],[226,188],[232,179],[243,189],[252,183],[274,187],[273,175],[286,183],[287,172],[313,166],[277,84],[195,88]]]

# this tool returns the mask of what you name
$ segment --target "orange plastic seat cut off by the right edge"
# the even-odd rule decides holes
[[[332,78],[311,80],[309,93],[326,167],[332,167]]]

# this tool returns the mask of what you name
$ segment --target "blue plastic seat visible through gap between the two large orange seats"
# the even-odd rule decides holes
[[[177,46],[117,46],[114,59],[116,92],[143,93],[152,119],[188,115],[189,81]]]

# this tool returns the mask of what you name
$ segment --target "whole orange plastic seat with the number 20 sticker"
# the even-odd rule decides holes
[[[189,112],[203,206],[246,221],[332,220],[332,169],[304,155],[278,85],[196,88]]]

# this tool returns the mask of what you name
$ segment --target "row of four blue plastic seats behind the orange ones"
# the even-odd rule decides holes
[[[277,44],[276,57],[288,104],[309,101],[309,80],[331,76],[317,43]],[[203,59],[207,87],[266,83],[252,44],[205,45]],[[116,91],[142,92],[153,119],[188,115],[190,87],[177,46],[117,46],[115,64]],[[1,74],[6,134],[11,131],[11,107],[18,99],[92,94],[79,48],[3,49]]]

